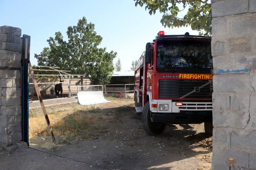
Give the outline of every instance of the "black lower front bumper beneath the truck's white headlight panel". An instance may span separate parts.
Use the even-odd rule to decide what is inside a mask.
[[[212,111],[180,111],[180,113],[152,113],[153,122],[171,124],[200,124],[212,122]]]

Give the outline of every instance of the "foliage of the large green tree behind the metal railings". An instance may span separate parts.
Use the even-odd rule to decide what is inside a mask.
[[[94,24],[87,23],[85,17],[78,20],[77,26],[69,26],[66,32],[68,41],[63,40],[60,32],[50,37],[49,47],[37,55],[38,65],[55,66],[71,70],[72,74],[82,74],[91,80],[91,84],[108,84],[114,71],[113,59],[117,53],[106,52],[98,48],[102,37],[94,31]],[[83,84],[81,78],[81,84]]]

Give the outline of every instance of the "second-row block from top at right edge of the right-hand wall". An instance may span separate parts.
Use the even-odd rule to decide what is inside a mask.
[[[248,14],[232,20],[233,33],[245,34],[256,32],[256,15]]]

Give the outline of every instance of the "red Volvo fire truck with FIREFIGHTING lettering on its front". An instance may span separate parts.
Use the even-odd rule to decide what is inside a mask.
[[[144,130],[165,124],[199,124],[212,135],[211,37],[164,35],[146,44],[135,69],[134,101]]]

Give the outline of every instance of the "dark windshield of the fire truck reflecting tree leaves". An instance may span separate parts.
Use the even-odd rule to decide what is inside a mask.
[[[211,42],[158,41],[156,68],[158,72],[210,72]]]

